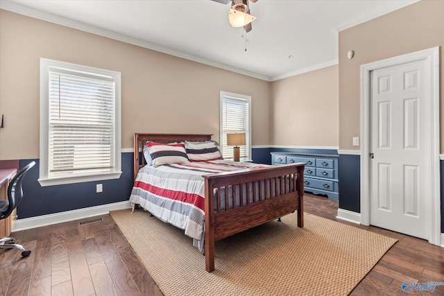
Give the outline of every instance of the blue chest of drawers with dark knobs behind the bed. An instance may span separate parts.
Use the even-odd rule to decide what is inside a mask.
[[[305,192],[339,200],[338,155],[272,152],[271,164],[305,162]]]

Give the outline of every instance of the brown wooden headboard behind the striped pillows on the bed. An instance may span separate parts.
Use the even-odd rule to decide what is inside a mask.
[[[137,172],[142,166],[146,164],[145,159],[139,156],[139,152],[142,151],[146,141],[152,141],[157,143],[172,143],[182,141],[209,141],[212,134],[134,134],[134,180],[137,177]]]

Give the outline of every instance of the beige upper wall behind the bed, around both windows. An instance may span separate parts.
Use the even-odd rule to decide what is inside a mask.
[[[40,58],[122,75],[122,148],[134,132],[212,133],[219,92],[252,97],[253,145],[270,140],[270,83],[0,10],[0,159],[39,157]]]

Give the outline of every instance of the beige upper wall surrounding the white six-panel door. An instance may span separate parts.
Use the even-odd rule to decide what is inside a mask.
[[[339,33],[339,148],[360,133],[361,64],[441,46],[441,139],[444,139],[444,1],[422,0]],[[355,51],[348,60],[347,52]],[[444,152],[441,141],[441,153]]]

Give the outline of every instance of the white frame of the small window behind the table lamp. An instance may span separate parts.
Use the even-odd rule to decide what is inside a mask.
[[[248,105],[248,119],[247,119],[247,136],[245,139],[245,143],[246,143],[246,150],[247,150],[247,157],[241,157],[240,161],[241,162],[250,162],[252,159],[252,148],[251,148],[251,96],[247,96],[244,94],[234,94],[232,92],[223,92],[221,91],[220,93],[220,109],[219,109],[219,116],[220,116],[220,123],[219,123],[219,139],[221,141],[220,143],[220,149],[221,149],[221,153],[223,154],[223,149],[224,148],[228,148],[228,149],[232,149],[232,146],[224,146],[223,145],[223,99],[224,98],[232,98],[233,100],[237,100],[237,101],[244,101],[247,103]]]

